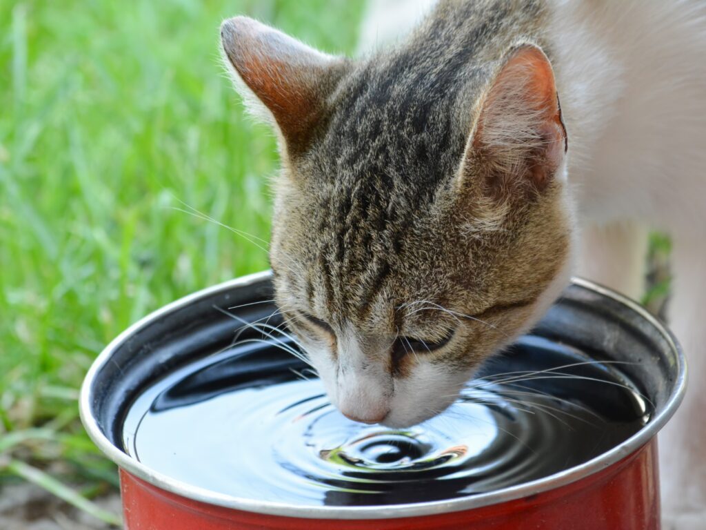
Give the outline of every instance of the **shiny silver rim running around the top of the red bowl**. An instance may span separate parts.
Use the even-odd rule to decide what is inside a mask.
[[[636,302],[633,302],[632,300],[625,298],[612,290],[590,281],[586,281],[582,278],[573,278],[572,281],[574,284],[616,300],[622,305],[628,307],[630,310],[633,310],[633,312],[640,314],[640,316],[654,326],[654,328],[659,331],[659,334],[661,334],[667,343],[669,343],[670,348],[676,353],[678,363],[678,379],[675,384],[675,390],[671,394],[669,401],[667,401],[664,406],[664,409],[657,413],[657,415],[650,420],[650,423],[645,425],[645,428],[642,428],[642,430],[633,435],[633,437],[628,438],[628,440],[617,445],[609,452],[605,452],[599,457],[587,461],[585,464],[581,464],[580,466],[575,466],[567,469],[566,471],[562,471],[561,473],[556,473],[549,477],[541,478],[537,481],[531,481],[513,486],[512,488],[503,488],[502,490],[490,493],[480,493],[473,495],[472,497],[463,497],[453,500],[380,507],[307,507],[277,502],[242,499],[239,497],[222,495],[203,488],[196,488],[193,485],[176,481],[169,476],[153,471],[148,468],[148,466],[145,466],[131,457],[128,457],[127,454],[115,447],[101,432],[95,418],[92,416],[90,411],[90,387],[96,373],[104,364],[109,362],[109,359],[116,348],[118,348],[118,346],[120,346],[126,338],[135,334],[136,331],[143,326],[150,324],[150,322],[156,319],[164,317],[174,310],[184,307],[185,305],[189,305],[200,298],[215,295],[221,291],[232,290],[233,288],[258,283],[260,281],[267,280],[268,278],[270,278],[270,271],[263,271],[261,273],[251,274],[250,276],[244,276],[225,283],[220,283],[219,285],[214,285],[213,287],[200,290],[172,302],[171,304],[162,307],[160,310],[149,314],[147,317],[141,319],[123,331],[123,333],[117,336],[114,341],[109,343],[100,355],[98,355],[83,381],[83,386],[81,387],[80,393],[79,408],[81,420],[83,421],[85,430],[88,431],[88,435],[91,437],[93,442],[95,442],[97,447],[109,459],[114,461],[125,471],[128,471],[128,473],[131,473],[132,475],[137,476],[138,478],[141,478],[144,481],[157,486],[158,488],[162,488],[162,490],[167,490],[189,499],[205,502],[211,505],[232,508],[234,510],[311,519],[386,519],[394,517],[433,515],[446,512],[457,512],[461,510],[471,510],[481,506],[493,505],[498,502],[514,500],[520,497],[542,493],[547,490],[561,488],[563,485],[578,481],[580,478],[585,478],[592,475],[592,473],[597,473],[602,469],[606,469],[612,464],[615,464],[617,461],[628,457],[628,455],[637,451],[640,447],[652,440],[652,437],[657,435],[657,432],[674,414],[674,411],[676,411],[676,408],[678,408],[681,400],[683,399],[684,391],[686,389],[686,363],[681,347],[678,346],[674,336],[664,327],[664,325],[662,325],[661,322],[655,319],[652,314],[647,312],[647,310],[638,305]]]

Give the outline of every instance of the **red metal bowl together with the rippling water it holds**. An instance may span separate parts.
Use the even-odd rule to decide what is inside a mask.
[[[318,415],[309,416],[316,420],[312,419],[312,424],[333,422],[330,423],[333,427],[325,431],[329,436],[335,437],[338,428],[347,429],[346,432],[354,433],[351,435],[354,440],[333,444],[328,449],[325,448],[327,442],[321,442],[323,445],[319,447],[315,440],[316,443],[306,444],[306,447],[316,446],[311,451],[306,449],[311,454],[305,454],[305,444],[298,434],[273,435],[267,442],[258,442],[261,434],[257,425],[260,423],[252,418],[267,415],[255,415],[253,411],[262,408],[261,401],[247,396],[234,402],[237,406],[225,409],[228,416],[223,417],[229,418],[227,421],[211,420],[216,425],[213,428],[225,427],[219,435],[208,432],[212,428],[208,421],[201,424],[201,418],[208,416],[199,412],[201,408],[194,408],[191,416],[175,416],[191,406],[211,406],[230,399],[236,391],[277,389],[277,384],[294,384],[292,381],[296,378],[285,377],[287,373],[306,379],[308,375],[303,373],[306,365],[294,355],[273,349],[279,345],[292,351],[296,345],[277,334],[282,323],[273,315],[272,298],[268,271],[193,293],[133,324],[104,349],[90,368],[81,390],[80,414],[92,440],[119,466],[128,530],[659,529],[656,435],[681,402],[686,365],[674,336],[637,303],[575,278],[530,334],[500,355],[501,361],[491,361],[481,370],[477,381],[482,384],[475,382],[472,389],[486,392],[497,382],[517,384],[520,379],[513,379],[512,374],[524,373],[532,376],[522,381],[523,385],[529,385],[520,391],[525,397],[509,400],[512,408],[509,412],[503,410],[508,403],[491,403],[486,394],[482,400],[466,399],[463,406],[475,408],[464,410],[481,415],[491,410],[494,416],[488,416],[491,420],[486,423],[494,425],[492,432],[488,434],[489,428],[479,427],[478,432],[486,435],[485,442],[464,442],[463,450],[450,456],[448,451],[436,452],[433,455],[436,460],[428,464],[431,460],[424,455],[420,457],[419,452],[431,454],[436,449],[429,449],[432,442],[424,442],[424,433],[431,432],[426,424],[416,430],[390,432],[375,426],[336,423],[340,419],[325,401],[289,418],[288,423],[285,422],[289,425],[287,428],[295,421],[301,423],[301,417],[311,413]],[[272,327],[260,326],[263,322],[269,322]],[[253,323],[257,324],[253,326]],[[534,355],[532,362],[540,365],[551,363],[557,355],[568,356],[575,362],[542,365],[539,370],[527,368],[528,355]],[[498,366],[502,369],[501,375],[504,374],[502,379],[498,379]],[[523,370],[518,368],[513,372],[513,367]],[[589,369],[592,371],[585,371]],[[618,379],[611,379],[614,376]],[[315,389],[319,383],[315,377],[313,379],[313,382],[296,382],[301,383],[296,388]],[[547,383],[544,379],[551,380]],[[546,401],[538,405],[537,399],[527,397],[533,384],[540,385],[537,387],[539,394],[548,393],[542,385],[554,385],[548,399],[562,393],[566,404],[582,392],[594,395],[600,416],[608,418],[605,424],[600,424],[605,427],[596,431],[599,435],[595,435],[595,440],[584,440],[590,436],[575,434],[567,439],[573,441],[562,442],[562,423],[568,428],[578,426],[580,429],[582,424],[574,419],[566,423],[569,416],[578,418],[576,411],[580,408],[563,411],[561,407],[550,408]],[[624,389],[630,391],[626,394]],[[248,394],[256,395],[265,396]],[[325,400],[318,394],[315,397]],[[539,398],[544,399],[541,395]],[[481,410],[479,404],[485,408]],[[620,413],[623,409],[628,412]],[[630,415],[630,411],[634,416],[630,416],[631,430],[621,431],[613,442],[600,445],[604,433],[611,430],[611,417]],[[270,416],[281,418],[277,414]],[[504,424],[505,428],[498,428],[508,432],[516,429],[514,434],[510,432],[512,438],[503,436],[495,428],[499,425],[496,425],[497,418],[505,417],[510,418],[509,423]],[[164,423],[165,418],[172,418],[169,420],[172,424]],[[272,418],[267,421],[276,421]],[[523,427],[523,421],[529,422],[529,427]],[[591,423],[590,418],[582,421]],[[540,429],[533,422],[544,422],[549,427],[545,425]],[[169,425],[176,425],[177,431],[170,432]],[[469,428],[467,422],[456,425]],[[238,428],[241,442],[229,442],[227,447],[232,448],[233,454],[241,452],[245,457],[241,455],[240,459],[233,460],[229,450],[222,449],[225,442],[220,441]],[[266,433],[277,428],[273,423],[261,431]],[[528,440],[535,440],[532,433],[536,434],[537,429],[540,434],[544,433],[537,438],[539,441],[533,442],[534,447],[530,444],[529,452],[520,450],[523,443],[527,446]],[[323,427],[320,430],[324,432]],[[148,435],[136,435],[136,432],[148,431],[155,433],[150,435],[155,437],[151,446],[141,441],[148,440]],[[175,434],[177,432],[179,434]],[[286,432],[304,431],[290,429]],[[323,435],[316,433],[314,437],[318,436]],[[480,434],[479,437],[482,438]],[[370,440],[376,442],[367,443]],[[381,444],[388,444],[387,452],[381,452]],[[544,444],[553,444],[551,447],[559,449],[542,449]],[[572,448],[579,445],[600,450],[595,454],[588,452],[582,459],[570,458]],[[215,449],[209,449],[212,447]],[[244,452],[245,447],[248,449]],[[249,457],[251,452],[265,456],[276,452],[288,458],[289,451],[299,455],[299,461],[309,459],[297,464],[299,482],[291,484],[287,482],[288,471],[268,469],[258,464],[259,457]],[[370,457],[372,464],[366,463],[365,459],[373,453],[377,456]],[[305,456],[301,457],[302,454]],[[443,472],[447,473],[442,477],[444,482],[440,478],[443,473],[439,470],[448,470],[449,461],[464,462],[476,473],[478,454],[500,455],[492,457],[495,466],[492,472],[483,474],[482,479],[474,475],[472,484],[464,483],[455,489],[437,487],[437,484],[455,484],[451,479],[455,480],[456,476],[451,471]],[[295,460],[292,456],[292,461]],[[319,471],[323,469],[321,476],[328,477],[326,470],[329,468],[325,466],[334,466],[330,469],[337,469],[348,478],[354,477],[360,487],[351,488],[348,483],[340,485],[338,476],[335,480],[320,481],[316,470],[302,472],[301,469],[309,469],[306,466],[311,461],[316,461],[312,465],[318,466]],[[512,466],[508,461],[514,462]],[[538,474],[535,461],[545,464],[550,461],[551,466],[542,464],[545,472]],[[566,465],[557,467],[557,463]],[[282,468],[296,467],[290,464],[287,461]],[[422,464],[427,468],[421,469]],[[410,470],[426,474],[409,474]],[[377,474],[364,474],[370,471]],[[258,473],[263,475],[269,489],[260,490]],[[436,482],[424,482],[423,488],[415,489],[414,481],[418,477],[425,477],[426,481],[429,473],[436,473],[433,474]],[[400,476],[408,479],[400,481]],[[381,478],[381,482],[369,487],[374,481],[366,477],[374,481]],[[366,488],[372,488],[375,495],[368,495]],[[381,495],[382,490],[385,495]],[[317,491],[322,493],[317,495]],[[301,500],[296,500],[299,493]]]

